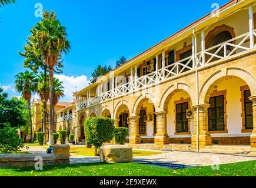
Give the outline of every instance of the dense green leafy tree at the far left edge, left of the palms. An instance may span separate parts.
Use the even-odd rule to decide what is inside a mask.
[[[6,126],[26,126],[29,122],[28,105],[25,99],[8,99],[8,94],[0,88],[0,129]]]

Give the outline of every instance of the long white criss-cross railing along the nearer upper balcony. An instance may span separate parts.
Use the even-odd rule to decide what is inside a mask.
[[[256,29],[254,30],[253,34],[256,37]],[[249,41],[249,46],[247,41]],[[254,47],[256,47],[256,44]],[[202,52],[198,52],[195,56],[189,56],[181,61],[172,63],[171,65],[158,69],[157,71],[151,72],[148,75],[135,78],[128,83],[117,86],[113,90],[101,93],[99,96],[90,98],[89,100],[78,100],[76,103],[76,109],[82,110],[112,98],[127,95],[127,93],[134,92],[135,90],[146,88],[148,85],[161,82],[162,80],[166,80],[172,76],[187,72],[188,70],[193,70],[195,69],[196,64],[202,67],[219,59],[224,59],[249,49],[250,33],[248,32],[218,45],[212,46],[211,48],[205,49]]]

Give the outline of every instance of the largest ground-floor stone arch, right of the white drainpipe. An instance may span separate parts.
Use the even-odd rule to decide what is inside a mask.
[[[235,76],[244,80],[251,90],[251,95],[256,96],[256,79],[251,75],[250,72],[247,72],[247,70],[241,68],[225,68],[218,70],[204,82],[199,93],[200,104],[208,103],[211,94],[210,92],[214,88],[214,83],[225,79],[228,76]]]

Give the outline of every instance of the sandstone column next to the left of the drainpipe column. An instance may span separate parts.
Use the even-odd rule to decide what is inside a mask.
[[[155,112],[157,115],[157,134],[155,135],[155,145],[169,145],[169,136],[167,134],[167,113]]]

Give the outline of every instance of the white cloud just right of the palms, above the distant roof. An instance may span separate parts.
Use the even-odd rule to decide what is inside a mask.
[[[73,92],[75,92],[75,87],[77,86],[77,91],[84,89],[89,85],[89,80],[87,76],[67,76],[67,75],[54,75],[55,78],[58,78],[63,82],[65,100],[71,101],[73,99]]]

